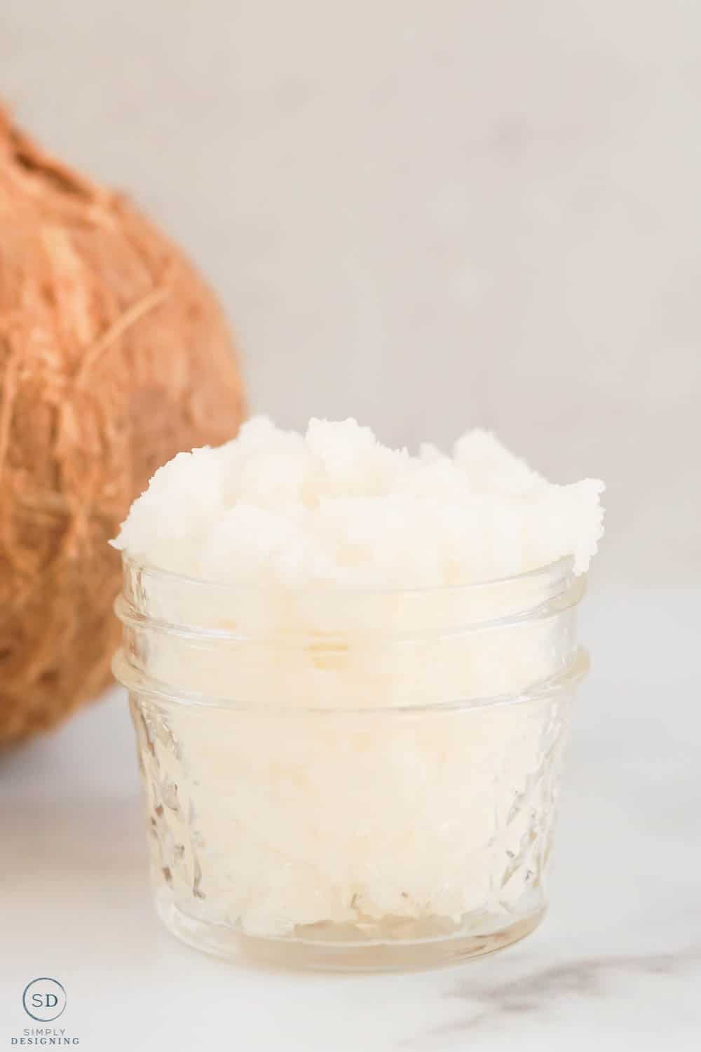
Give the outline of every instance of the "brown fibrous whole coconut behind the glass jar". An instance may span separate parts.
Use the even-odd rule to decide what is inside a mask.
[[[0,744],[109,682],[120,558],[157,467],[232,438],[239,368],[217,300],[129,202],[0,113]]]

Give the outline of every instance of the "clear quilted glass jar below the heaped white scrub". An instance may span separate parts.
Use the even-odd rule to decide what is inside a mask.
[[[540,920],[571,560],[470,586],[233,587],[124,560],[156,906],[191,946],[426,967]]]

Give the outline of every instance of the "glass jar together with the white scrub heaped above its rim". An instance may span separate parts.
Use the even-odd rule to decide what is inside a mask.
[[[483,431],[411,457],[264,418],[156,473],[115,669],[171,930],[376,968],[535,927],[602,489]]]

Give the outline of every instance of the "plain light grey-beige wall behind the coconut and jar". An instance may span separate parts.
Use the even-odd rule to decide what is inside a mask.
[[[224,298],[253,407],[494,427],[701,580],[701,5],[0,0],[0,92]]]

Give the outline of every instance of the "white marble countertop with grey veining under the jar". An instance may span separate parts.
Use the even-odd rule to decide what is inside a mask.
[[[50,1026],[86,1052],[697,1050],[700,605],[692,589],[589,596],[549,915],[439,971],[273,972],[161,930],[120,691],[2,757],[0,1048],[32,1023],[26,984],[49,975],[67,993]]]

